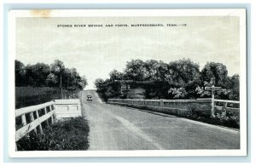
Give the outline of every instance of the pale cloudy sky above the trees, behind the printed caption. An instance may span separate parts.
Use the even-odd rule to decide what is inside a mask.
[[[163,26],[131,26],[136,24]],[[240,71],[239,48],[239,18],[233,16],[16,19],[15,59],[24,65],[61,60],[87,78],[86,89],[95,89],[96,78],[108,78],[113,69],[122,72],[131,59],[169,63],[189,58],[201,68],[207,61],[219,62],[232,76]]]

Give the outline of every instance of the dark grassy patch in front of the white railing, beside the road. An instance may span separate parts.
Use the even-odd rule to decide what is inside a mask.
[[[89,125],[83,117],[66,119],[44,129],[44,134],[34,132],[16,142],[18,151],[68,151],[89,148]]]

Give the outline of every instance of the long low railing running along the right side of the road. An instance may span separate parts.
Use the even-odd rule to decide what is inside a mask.
[[[109,104],[144,108],[153,111],[170,112],[183,115],[191,109],[196,109],[205,114],[211,114],[212,99],[197,100],[139,100],[139,99],[109,99]],[[240,114],[240,101],[214,100],[214,112],[231,112],[234,116]]]

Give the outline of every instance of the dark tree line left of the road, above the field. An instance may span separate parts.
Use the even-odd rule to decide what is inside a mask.
[[[84,89],[87,80],[75,68],[66,68],[61,60],[52,64],[37,63],[24,65],[15,60],[16,87],[58,87],[67,90]]]

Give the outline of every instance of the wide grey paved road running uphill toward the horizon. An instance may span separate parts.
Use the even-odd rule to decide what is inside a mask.
[[[93,100],[87,101],[86,95]],[[239,149],[240,132],[186,118],[102,103],[82,91],[90,150]]]

